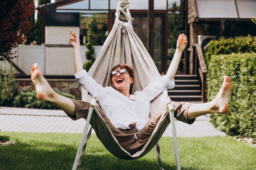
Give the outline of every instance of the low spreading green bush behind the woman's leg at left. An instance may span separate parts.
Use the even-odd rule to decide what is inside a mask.
[[[59,93],[65,97],[76,99],[75,96],[68,93]],[[15,97],[13,102],[14,107],[25,108],[39,108],[39,109],[59,109],[55,104],[51,102],[41,101],[37,99],[36,91],[28,91],[26,93],[20,93]]]

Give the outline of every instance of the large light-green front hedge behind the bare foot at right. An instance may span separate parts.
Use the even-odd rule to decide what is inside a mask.
[[[213,55],[207,76],[207,98],[217,94],[223,75],[229,75],[232,91],[228,114],[211,114],[211,123],[228,135],[256,141],[256,53]]]

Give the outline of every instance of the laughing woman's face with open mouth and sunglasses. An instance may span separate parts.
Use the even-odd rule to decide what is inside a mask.
[[[133,78],[130,77],[128,71],[121,75],[119,71],[123,68],[116,68],[114,71],[118,71],[115,77],[112,77],[112,83],[117,91],[128,91],[130,90],[130,84],[133,83]]]

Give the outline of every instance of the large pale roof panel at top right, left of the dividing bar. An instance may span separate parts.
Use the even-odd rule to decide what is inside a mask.
[[[234,0],[196,0],[199,18],[238,18]]]

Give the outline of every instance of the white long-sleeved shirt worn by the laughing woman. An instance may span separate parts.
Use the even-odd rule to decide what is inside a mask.
[[[174,79],[167,76],[158,77],[143,91],[136,91],[130,98],[112,87],[103,87],[83,70],[75,74],[76,81],[91,95],[97,93],[97,101],[111,123],[119,129],[129,129],[129,125],[137,122],[137,130],[141,130],[149,121],[150,102],[164,89],[175,86]],[[132,100],[135,100],[132,101]]]

